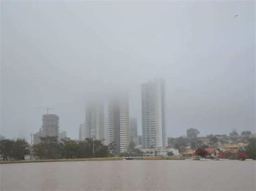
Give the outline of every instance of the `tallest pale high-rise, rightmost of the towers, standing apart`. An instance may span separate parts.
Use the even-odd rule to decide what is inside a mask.
[[[164,80],[142,84],[142,137],[143,148],[167,146]]]

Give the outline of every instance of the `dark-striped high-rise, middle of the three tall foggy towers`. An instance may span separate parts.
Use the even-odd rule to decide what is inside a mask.
[[[130,143],[128,96],[112,98],[108,112],[108,144],[114,143],[114,154],[126,152]]]

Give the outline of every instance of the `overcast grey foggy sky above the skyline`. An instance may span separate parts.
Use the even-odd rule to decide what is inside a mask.
[[[78,138],[87,94],[166,80],[167,134],[255,132],[254,1],[1,1],[1,127],[29,138],[51,107]],[[238,17],[234,17],[239,15]]]

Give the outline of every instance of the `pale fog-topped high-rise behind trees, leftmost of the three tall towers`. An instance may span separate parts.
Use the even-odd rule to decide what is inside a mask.
[[[86,104],[86,138],[104,139],[104,104],[90,102]]]

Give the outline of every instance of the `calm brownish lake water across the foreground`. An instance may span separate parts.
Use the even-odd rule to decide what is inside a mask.
[[[256,161],[126,160],[0,165],[1,190],[256,190]]]

